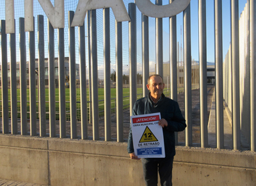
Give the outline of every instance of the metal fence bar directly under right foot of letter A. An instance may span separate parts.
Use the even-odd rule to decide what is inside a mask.
[[[123,47],[122,22],[116,21],[116,131],[117,142],[124,141],[123,121]]]

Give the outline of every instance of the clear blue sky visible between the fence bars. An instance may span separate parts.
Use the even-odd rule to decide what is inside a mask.
[[[52,3],[54,2],[54,0],[51,0],[51,1],[52,1]],[[125,3],[125,6],[127,6],[127,4],[130,2],[134,2],[134,0],[123,0],[123,1]],[[152,1],[152,3],[155,2],[155,0],[150,0],[150,1]],[[179,1],[179,0],[177,0],[177,1]],[[17,3],[19,1],[15,1],[15,2]],[[65,1],[65,2],[67,2],[67,1]],[[74,10],[75,10],[76,3],[78,2],[78,0],[68,1],[68,2],[70,2],[69,6],[74,7]],[[247,2],[247,0],[239,0],[239,17],[240,17],[240,13],[244,9],[246,2]],[[37,0],[34,0],[34,3],[38,3]],[[169,3],[169,0],[163,0],[163,5],[168,4],[168,3]],[[191,55],[192,55],[192,59],[195,59],[196,61],[198,61],[198,0],[191,0],[190,4],[191,4]],[[1,1],[0,5],[1,5],[0,10],[2,10],[0,13],[0,19],[4,19],[4,17],[5,17],[4,12],[3,12],[4,1]],[[23,3],[22,3],[22,5],[23,5]],[[206,0],[206,6],[207,6],[206,7],[207,8],[207,10],[206,10],[206,14],[207,14],[206,15],[206,19],[207,19],[207,61],[214,62],[214,0]],[[16,10],[16,8],[18,10]],[[222,9],[223,9],[222,17],[223,17],[223,59],[224,59],[225,55],[227,54],[228,47],[230,44],[230,0],[222,1]],[[102,10],[100,10],[100,11],[102,12]],[[35,10],[35,12],[42,12],[42,8],[39,8],[39,9],[37,8]],[[24,15],[24,8],[22,6],[19,7],[17,4],[15,4],[15,16],[17,14]],[[139,12],[137,12],[137,15],[138,14],[139,14]],[[45,17],[45,19],[46,19],[46,17]],[[151,21],[154,22],[154,20],[151,20]],[[138,22],[138,20],[137,20],[137,22]],[[138,23],[137,37],[139,37],[141,35],[141,31],[140,31],[141,26],[140,25],[141,24]],[[127,27],[127,26],[128,26],[128,23],[123,22],[123,27]],[[179,42],[179,43],[180,43],[180,26],[183,29],[183,13],[179,13],[179,15],[177,15],[177,42]],[[152,27],[150,29],[152,29]],[[115,30],[115,22],[114,22],[114,30]],[[165,32],[165,36],[166,35],[168,36],[169,18],[163,19],[163,30]],[[125,34],[126,34],[126,32],[125,32]],[[154,34],[154,31],[152,31],[152,34]],[[67,34],[66,34],[66,36],[67,36]],[[115,32],[114,32],[114,35],[112,36],[112,38],[113,38],[113,44],[115,45]],[[66,38],[66,40],[67,40],[67,38]],[[154,36],[152,36],[152,38],[150,38],[150,42],[152,42],[152,41],[154,41]],[[165,43],[164,47],[166,47],[166,45],[168,47],[168,40],[164,40],[164,43]],[[124,45],[124,47],[126,47],[124,50],[129,50],[127,48],[128,47],[127,38],[124,38],[123,45]],[[138,46],[137,46],[138,63],[140,63],[140,61],[141,61],[141,57],[140,57],[141,46],[140,45],[141,45],[141,43],[139,42]],[[68,47],[66,47],[66,49],[68,49]],[[167,49],[165,49],[165,51],[166,50]],[[165,52],[165,51],[164,51],[164,62],[169,60],[168,59],[169,55],[167,55],[167,52]],[[124,68],[126,68],[125,67],[127,65],[126,63],[129,60],[127,52],[124,52],[124,54],[123,54]],[[155,58],[154,52],[155,52],[155,48],[151,47],[150,48],[150,56],[151,56],[150,59],[152,61],[154,61],[154,58]],[[115,61],[114,53],[115,53],[115,46],[113,46],[113,55],[111,55],[111,56],[113,56],[113,58],[111,57],[111,61]],[[67,54],[68,54],[68,52],[67,52]],[[45,55],[45,58],[47,58],[47,55]],[[77,61],[77,63],[78,63],[78,61]]]

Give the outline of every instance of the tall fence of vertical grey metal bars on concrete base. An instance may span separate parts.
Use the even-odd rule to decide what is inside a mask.
[[[223,97],[232,111],[232,125],[234,136],[234,149],[239,150],[240,131],[244,136],[250,134],[251,150],[255,151],[255,3],[250,1],[248,8],[250,14],[244,13],[243,30],[238,29],[238,1],[231,1],[231,15],[232,15],[232,45],[227,54],[223,67],[222,59],[222,21],[221,21],[221,1],[214,1],[214,23],[215,23],[215,63],[216,63],[216,141],[217,148],[224,148],[223,140]],[[156,3],[161,4],[161,1]],[[172,0],[170,0],[172,3]],[[142,61],[143,61],[143,93],[147,95],[148,91],[145,88],[147,84],[147,77],[149,75],[148,66],[148,17],[141,15],[142,19],[136,19],[136,4],[129,3],[129,107],[130,111],[132,105],[137,97],[137,48],[136,48],[136,22],[141,21],[142,25]],[[191,64],[191,15],[190,5],[183,12],[184,17],[184,95],[185,95],[185,118],[188,127],[186,128],[186,146],[193,146],[192,143],[192,64]],[[245,18],[246,17],[246,18]],[[68,12],[68,41],[69,41],[69,56],[68,56],[68,70],[69,70],[69,111],[70,111],[70,138],[77,138],[77,87],[76,87],[76,43],[75,43],[75,27],[71,27],[74,12]],[[109,8],[103,10],[103,33],[104,33],[104,122],[105,122],[105,140],[111,141],[111,81],[110,81],[110,57],[109,57]],[[198,0],[198,22],[199,22],[199,70],[200,76],[200,136],[201,146],[203,148],[208,146],[208,132],[207,132],[207,59],[206,59],[206,20],[205,20],[205,0]],[[241,21],[241,20],[240,20]],[[161,33],[162,20],[156,19],[156,72],[163,75],[163,38]],[[98,67],[97,67],[97,15],[96,10],[88,11],[88,48],[89,48],[89,93],[87,95],[86,82],[86,52],[85,52],[85,26],[78,27],[79,37],[79,84],[80,84],[80,102],[81,104],[81,139],[88,139],[88,100],[92,104],[92,125],[93,125],[93,140],[99,140],[99,88],[98,88]],[[246,24],[247,23],[247,24]],[[250,26],[249,26],[250,23]],[[241,23],[240,23],[241,24]],[[29,49],[26,51],[26,35],[24,32],[24,19],[19,19],[19,50],[20,50],[20,134],[27,135],[27,91],[29,91],[29,122],[31,136],[36,136],[36,112],[39,114],[40,122],[40,136],[46,136],[46,100],[45,100],[45,40],[44,40],[44,17],[38,15],[37,17],[37,31],[38,43],[35,43],[35,29],[28,33]],[[123,93],[123,64],[122,64],[122,23],[115,23],[115,37],[116,37],[116,136],[117,141],[124,141],[124,93]],[[2,83],[2,122],[3,133],[9,133],[9,118],[11,118],[12,134],[18,134],[17,126],[17,69],[16,69],[16,38],[15,33],[10,34],[10,98],[8,97],[8,60],[7,60],[7,35],[5,33],[5,21],[1,20],[1,83]],[[250,28],[246,30],[245,27]],[[67,116],[67,100],[65,94],[65,50],[64,50],[64,30],[57,29],[58,35],[54,35],[54,29],[51,23],[48,22],[48,63],[49,63],[49,136],[56,137],[56,104],[59,107],[59,122],[60,122],[60,138],[67,137],[66,135],[66,116]],[[178,81],[177,81],[177,34],[176,34],[176,17],[170,17],[170,97],[177,100]],[[238,33],[240,35],[238,35]],[[243,35],[241,33],[244,33]],[[250,39],[248,38],[250,35]],[[58,98],[56,100],[55,78],[54,78],[54,37],[58,37]],[[250,40],[250,44],[247,42]],[[242,51],[243,55],[238,50]],[[35,77],[35,45],[38,45],[38,111],[36,111],[36,77]],[[250,48],[250,49],[249,49]],[[231,50],[232,49],[232,50]],[[251,51],[251,52],[250,52]],[[253,52],[254,51],[254,52]],[[27,89],[27,70],[26,70],[26,52],[29,52],[29,89]],[[245,55],[247,52],[248,55]],[[240,61],[240,62],[239,62]],[[239,65],[240,64],[240,65]],[[179,66],[179,64],[178,64]],[[232,69],[230,68],[232,66]],[[243,66],[243,68],[239,68]],[[239,69],[241,72],[239,73]],[[250,70],[249,70],[250,69]],[[239,76],[240,74],[240,76]],[[232,77],[232,79],[231,79]],[[251,81],[250,81],[251,80]],[[248,82],[250,81],[250,82]],[[239,86],[240,85],[240,86]],[[249,86],[250,85],[250,86]],[[248,90],[250,90],[248,92]],[[250,95],[250,96],[248,96]],[[10,100],[11,116],[8,113],[8,100]],[[128,105],[128,104],[127,104]],[[241,105],[241,107],[240,107]],[[250,105],[250,107],[249,107]],[[250,112],[250,116],[248,117]],[[241,117],[240,117],[241,116]],[[240,121],[241,118],[241,121]],[[250,126],[248,123],[251,123]],[[241,129],[241,130],[240,130]],[[176,143],[178,144],[177,135]]]

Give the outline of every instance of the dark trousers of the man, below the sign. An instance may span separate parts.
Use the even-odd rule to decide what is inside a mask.
[[[168,159],[141,159],[144,180],[147,186],[157,186],[157,170],[162,186],[172,186],[173,157]]]

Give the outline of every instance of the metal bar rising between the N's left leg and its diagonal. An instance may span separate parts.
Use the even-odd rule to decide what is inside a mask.
[[[38,15],[38,75],[39,75],[39,123],[40,136],[46,136],[45,125],[45,61],[44,61],[44,16]]]

